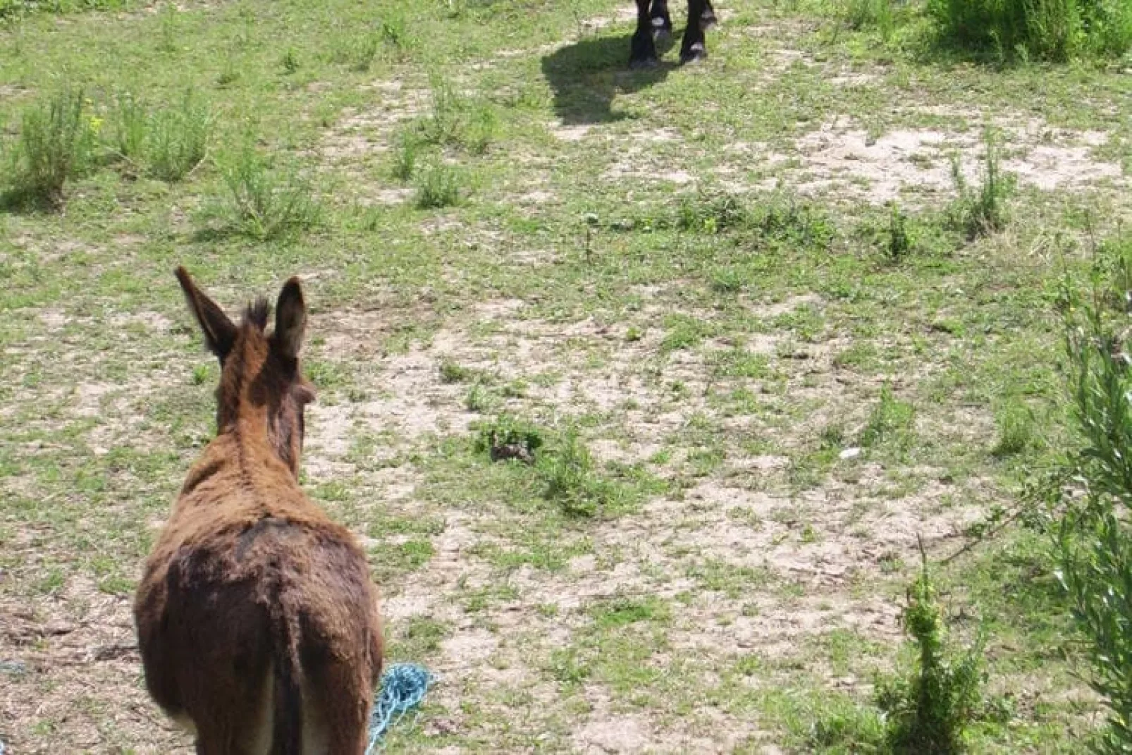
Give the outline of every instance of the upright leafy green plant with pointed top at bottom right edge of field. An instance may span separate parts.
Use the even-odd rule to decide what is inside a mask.
[[[958,658],[950,657],[947,628],[926,556],[908,590],[902,621],[918,654],[911,672],[877,685],[877,705],[886,715],[885,739],[894,753],[960,753],[963,732],[981,700],[984,637],[980,634]]]

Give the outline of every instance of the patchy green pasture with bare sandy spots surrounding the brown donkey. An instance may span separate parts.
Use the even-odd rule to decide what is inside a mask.
[[[1132,280],[1120,63],[972,60],[923,3],[723,7],[704,66],[640,72],[608,0],[20,10],[3,190],[25,112],[82,160],[0,212],[12,752],[189,746],[135,660],[71,658],[121,642],[214,431],[178,264],[233,315],[303,280],[301,479],[362,538],[389,658],[443,675],[392,752],[881,748],[917,531],[993,537],[933,573],[953,636],[986,626],[969,749],[1098,728],[1013,515],[1073,447],[1061,312],[1098,276],[1123,317]]]

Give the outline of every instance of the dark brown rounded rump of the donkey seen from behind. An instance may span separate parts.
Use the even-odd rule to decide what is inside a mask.
[[[274,720],[285,703],[275,697],[291,685],[295,704],[282,707],[302,720],[311,743],[303,752],[325,749],[315,744],[325,741],[321,731],[365,721],[366,704],[318,703],[343,693],[368,701],[380,671],[365,557],[337,529],[264,516],[177,548],[164,578],[138,601],[140,612],[157,614],[139,623],[149,627],[139,637],[146,681],[173,718],[197,730],[207,721],[199,733],[231,741],[231,752],[267,752],[273,726],[285,723]]]

